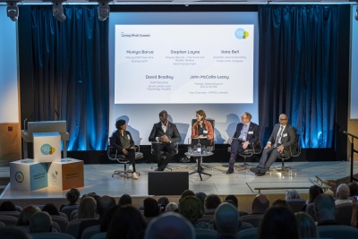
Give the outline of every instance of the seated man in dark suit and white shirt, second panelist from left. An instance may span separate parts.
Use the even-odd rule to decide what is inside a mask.
[[[164,171],[167,164],[175,157],[176,144],[182,141],[176,125],[168,122],[166,110],[159,113],[160,122],[153,125],[149,135],[149,141],[153,142],[155,157],[158,162],[157,171]],[[166,151],[166,160],[160,157],[160,152]]]

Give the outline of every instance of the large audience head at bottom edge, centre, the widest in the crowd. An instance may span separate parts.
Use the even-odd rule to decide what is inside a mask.
[[[168,212],[149,222],[144,238],[195,239],[195,231],[192,224],[181,214]]]

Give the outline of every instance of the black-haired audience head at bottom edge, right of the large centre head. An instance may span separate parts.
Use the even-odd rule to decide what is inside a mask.
[[[269,208],[261,221],[259,239],[298,239],[298,229],[294,213],[282,206]]]

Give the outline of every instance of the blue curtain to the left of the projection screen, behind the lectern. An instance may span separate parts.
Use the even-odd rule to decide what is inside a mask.
[[[108,21],[97,5],[31,6],[36,121],[66,120],[68,150],[106,149],[108,132]],[[57,117],[57,113],[58,117]]]

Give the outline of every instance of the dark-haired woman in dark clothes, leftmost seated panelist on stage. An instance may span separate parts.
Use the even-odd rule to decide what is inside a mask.
[[[135,146],[131,132],[126,131],[127,124],[123,119],[115,123],[115,128],[117,130],[112,134],[111,146],[117,150],[117,154],[125,155],[125,158],[129,159],[131,166],[129,166],[128,171],[132,172],[133,179],[138,179],[138,175],[135,172]]]

